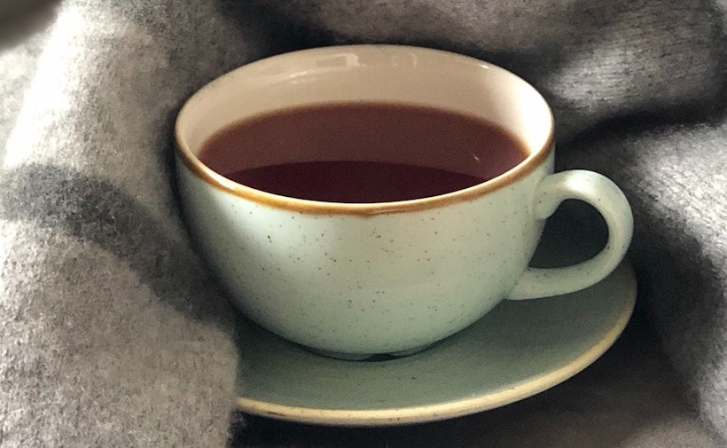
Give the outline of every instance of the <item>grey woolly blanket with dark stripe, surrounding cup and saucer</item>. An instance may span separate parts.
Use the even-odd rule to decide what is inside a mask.
[[[725,444],[724,0],[13,3],[0,9],[3,448]],[[573,380],[404,428],[231,413],[245,342],[178,213],[176,111],[254,59],[361,42],[511,69],[554,108],[559,168],[627,193],[637,318]]]

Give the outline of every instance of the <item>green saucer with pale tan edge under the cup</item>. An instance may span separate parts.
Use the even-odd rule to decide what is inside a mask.
[[[549,220],[533,264],[574,263],[598,252],[603,238],[582,227]],[[636,290],[624,262],[593,287],[504,301],[426,350],[379,361],[325,358],[244,322],[237,404],[274,419],[345,426],[443,420],[508,405],[599,358],[626,326]]]

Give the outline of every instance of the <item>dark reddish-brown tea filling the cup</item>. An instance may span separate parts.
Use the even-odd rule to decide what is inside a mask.
[[[268,193],[366,203],[455,192],[512,169],[527,155],[509,132],[473,116],[351,103],[235,123],[209,138],[199,159]]]

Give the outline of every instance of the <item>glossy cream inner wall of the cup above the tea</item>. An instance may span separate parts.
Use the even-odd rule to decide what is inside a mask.
[[[520,165],[534,163],[551,145],[551,110],[517,75],[455,53],[396,45],[296,51],[240,67],[187,101],[177,118],[177,140],[183,156],[201,164],[207,139],[235,122],[294,107],[361,102],[434,107],[487,120],[520,141],[528,153]],[[480,174],[472,163],[477,153],[399,147],[331,150],[292,142],[282,151],[260,147],[215,163],[232,172],[302,161],[386,161]]]

